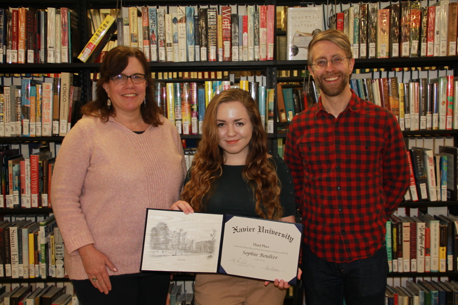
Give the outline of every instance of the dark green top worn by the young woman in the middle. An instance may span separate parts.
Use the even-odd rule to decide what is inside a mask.
[[[280,181],[280,203],[283,207],[283,217],[296,215],[294,203],[293,178],[290,170],[280,157],[269,158],[277,169]],[[207,202],[205,212],[210,214],[232,214],[259,218],[254,211],[255,197],[252,189],[243,180],[242,170],[244,165],[223,165],[221,177],[215,182],[213,192]],[[189,181],[189,171],[185,184]],[[208,195],[206,195],[207,197]],[[205,197],[205,199],[207,199]]]

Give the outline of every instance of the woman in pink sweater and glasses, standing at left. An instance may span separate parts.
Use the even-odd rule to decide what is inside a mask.
[[[186,173],[180,136],[153,101],[145,55],[116,47],[96,99],[62,142],[51,197],[83,305],[165,303],[169,276],[140,273],[147,208],[169,209]]]

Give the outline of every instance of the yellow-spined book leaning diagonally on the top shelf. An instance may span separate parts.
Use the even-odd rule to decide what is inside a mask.
[[[88,44],[78,55],[78,59],[80,59],[83,63],[87,62],[89,59],[89,62],[93,63],[115,31],[115,18],[111,15],[107,15],[100,24],[99,28],[97,28],[97,31],[94,33],[92,38],[89,40]]]

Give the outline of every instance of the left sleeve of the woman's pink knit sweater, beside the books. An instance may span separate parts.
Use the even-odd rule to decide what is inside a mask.
[[[52,175],[52,210],[71,255],[78,255],[79,248],[95,243],[80,204],[92,154],[90,139],[83,124],[76,124],[62,142]]]

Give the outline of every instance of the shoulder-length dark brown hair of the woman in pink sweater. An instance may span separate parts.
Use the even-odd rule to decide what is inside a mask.
[[[95,100],[83,105],[81,113],[89,116],[100,117],[104,122],[108,121],[108,117],[115,114],[114,107],[107,106],[108,95],[106,94],[103,84],[110,81],[110,77],[119,75],[126,69],[129,64],[129,58],[135,57],[140,62],[146,74],[146,103],[140,106],[140,112],[145,123],[151,124],[154,127],[162,125],[161,114],[162,109],[154,102],[153,96],[153,79],[150,74],[150,67],[145,57],[145,54],[139,49],[118,46],[109,50],[103,59],[100,67],[100,78],[96,83],[96,98]],[[145,105],[146,104],[146,105]]]

